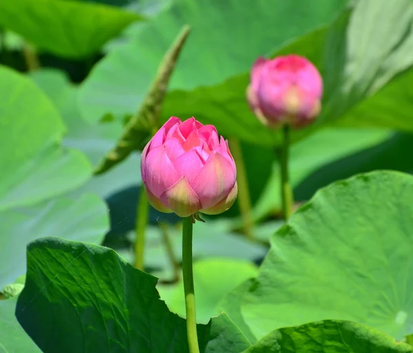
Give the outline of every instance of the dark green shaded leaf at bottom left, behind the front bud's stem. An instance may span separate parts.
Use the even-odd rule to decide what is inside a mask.
[[[167,309],[156,277],[111,249],[56,238],[28,247],[17,319],[43,351],[188,352],[184,319]],[[201,352],[249,347],[226,315],[198,326]]]

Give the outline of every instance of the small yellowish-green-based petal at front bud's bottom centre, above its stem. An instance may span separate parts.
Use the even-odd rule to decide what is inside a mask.
[[[164,205],[168,205],[180,217],[191,216],[191,214],[195,214],[202,207],[200,199],[193,192],[185,177],[182,177],[176,184],[169,187],[160,196],[160,199]]]

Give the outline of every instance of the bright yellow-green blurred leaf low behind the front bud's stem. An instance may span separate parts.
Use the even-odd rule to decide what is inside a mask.
[[[221,308],[217,307],[226,294],[233,291],[245,280],[257,275],[257,267],[246,260],[215,258],[200,260],[193,264],[193,282],[196,295],[197,322],[207,323],[213,315],[219,315]],[[169,291],[170,285],[158,285],[160,297],[163,290]],[[182,282],[173,287],[173,293],[167,293],[165,302],[168,308],[180,317],[186,317],[184,286]]]

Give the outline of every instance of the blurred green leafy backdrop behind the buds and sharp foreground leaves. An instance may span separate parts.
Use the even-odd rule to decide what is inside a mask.
[[[202,322],[255,277],[283,225],[279,135],[245,101],[257,56],[303,55],[324,78],[319,119],[293,133],[297,207],[360,172],[413,172],[410,0],[1,1],[0,293],[24,275],[25,245],[43,236],[104,244],[134,263],[140,155],[105,174],[93,170],[138,111],[185,24],[192,30],[161,122],[195,116],[240,144],[254,222],[251,239],[236,202],[196,225],[195,282],[207,288]],[[150,209],[145,268],[162,280],[171,310],[182,313],[182,284],[169,283],[173,265],[162,232],[180,262],[180,219]],[[226,286],[209,293],[217,281]]]

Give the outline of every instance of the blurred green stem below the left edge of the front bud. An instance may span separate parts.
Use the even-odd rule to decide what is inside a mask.
[[[143,271],[143,253],[145,249],[145,229],[148,223],[149,202],[145,188],[140,187],[139,201],[136,206],[135,267]]]

